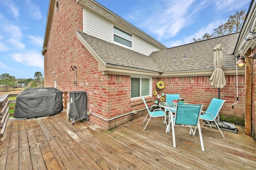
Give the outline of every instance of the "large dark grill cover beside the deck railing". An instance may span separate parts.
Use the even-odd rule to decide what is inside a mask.
[[[40,117],[62,110],[62,91],[54,87],[27,88],[17,96],[13,117]]]

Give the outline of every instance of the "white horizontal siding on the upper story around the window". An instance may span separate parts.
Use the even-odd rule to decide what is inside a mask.
[[[123,26],[118,24],[113,24],[110,20],[105,18],[101,18],[99,15],[94,14],[89,10],[83,8],[83,32],[94,36],[96,38],[100,38],[107,42],[118,44],[122,47],[126,47],[128,49],[132,49],[136,52],[142,53],[144,55],[150,55],[153,51],[160,50],[158,47],[152,45],[152,43],[146,42],[142,38],[138,37],[136,34],[132,34],[132,32],[124,30],[132,35],[132,47],[128,47],[126,45],[122,45],[120,43],[114,42],[113,34],[114,34],[114,26],[117,28],[123,29]]]

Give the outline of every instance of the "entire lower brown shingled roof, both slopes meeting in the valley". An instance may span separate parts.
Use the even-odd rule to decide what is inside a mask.
[[[104,65],[112,67],[126,67],[142,71],[158,72],[159,76],[170,75],[175,72],[213,71],[214,47],[220,43],[223,47],[223,69],[234,68],[236,58],[233,51],[239,33],[200,42],[180,45],[161,51],[155,51],[150,56],[143,55],[131,49],[106,42],[83,32],[77,32],[82,39],[97,53]],[[188,59],[183,60],[184,56]],[[174,57],[177,58],[174,61]],[[150,73],[149,73],[150,74]],[[204,74],[204,73],[202,73]]]

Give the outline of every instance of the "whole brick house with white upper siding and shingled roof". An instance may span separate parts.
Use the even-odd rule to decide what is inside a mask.
[[[94,0],[50,0],[42,49],[44,86],[86,91],[89,119],[105,129],[145,115],[141,96],[152,105],[159,80],[165,88],[158,92],[178,93],[206,109],[218,97],[210,76],[213,48],[221,43],[226,86],[220,98],[226,102],[220,113],[244,119],[245,69],[240,67],[238,96],[236,92],[234,49],[239,36],[167,48]],[[69,71],[71,65],[74,71]]]

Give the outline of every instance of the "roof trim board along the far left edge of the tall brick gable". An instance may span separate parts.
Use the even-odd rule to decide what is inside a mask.
[[[42,55],[44,55],[47,51],[48,40],[49,40],[49,36],[50,36],[50,28],[51,28],[51,25],[52,25],[52,16],[53,16],[54,4],[55,4],[55,0],[50,0],[49,1],[46,27],[45,27],[45,32],[44,32],[44,43],[43,43],[43,49],[41,51]]]

